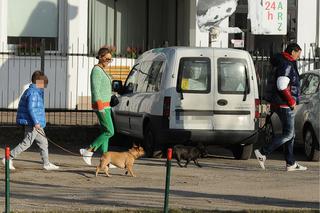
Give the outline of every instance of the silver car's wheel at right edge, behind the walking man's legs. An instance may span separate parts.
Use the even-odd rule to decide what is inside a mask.
[[[319,150],[316,149],[317,141],[313,130],[309,127],[303,134],[304,152],[308,160],[319,161]]]

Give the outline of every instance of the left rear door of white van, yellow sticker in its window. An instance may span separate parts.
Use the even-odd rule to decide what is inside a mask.
[[[172,129],[213,129],[213,96],[211,93],[211,59],[209,55],[186,52],[179,59],[178,78],[173,100]]]

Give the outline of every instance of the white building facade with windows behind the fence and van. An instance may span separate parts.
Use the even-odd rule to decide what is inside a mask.
[[[30,74],[41,68],[42,39],[49,108],[74,109],[89,96],[90,70],[103,45],[116,57],[111,66],[129,67],[151,48],[233,48],[233,39],[243,39],[243,49],[253,54],[279,51],[296,41],[303,57],[319,56],[319,1],[287,2],[287,35],[252,35],[247,0],[238,0],[235,13],[220,26],[238,27],[244,33],[221,32],[213,41],[197,26],[197,0],[1,0],[0,108],[16,108]]]

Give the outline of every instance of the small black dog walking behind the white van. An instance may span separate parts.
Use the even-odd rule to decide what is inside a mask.
[[[184,145],[175,145],[173,147],[173,157],[177,160],[177,163],[180,167],[183,167],[180,164],[181,160],[186,160],[184,167],[187,167],[191,160],[195,165],[201,167],[201,165],[198,163],[198,158],[205,157],[207,154],[208,152],[203,144],[198,144],[196,147]]]

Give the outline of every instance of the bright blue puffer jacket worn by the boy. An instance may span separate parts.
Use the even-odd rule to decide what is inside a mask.
[[[46,126],[44,91],[37,88],[35,84],[30,84],[29,88],[21,96],[17,124],[24,126],[40,124],[42,128]]]

